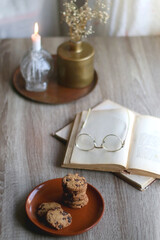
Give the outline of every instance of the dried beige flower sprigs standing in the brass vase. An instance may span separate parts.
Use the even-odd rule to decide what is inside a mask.
[[[93,27],[88,26],[88,22],[97,19],[101,23],[107,23],[109,18],[108,12],[102,0],[96,0],[95,9],[88,5],[88,0],[78,8],[77,0],[66,0],[63,4],[65,11],[62,12],[63,20],[69,26],[69,35],[73,41],[80,41],[83,37],[94,33]]]

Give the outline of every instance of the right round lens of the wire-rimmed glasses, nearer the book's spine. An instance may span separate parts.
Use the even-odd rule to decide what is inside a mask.
[[[110,152],[118,151],[121,149],[121,147],[122,147],[121,139],[114,134],[107,135],[103,139],[103,148],[106,149],[107,151]]]

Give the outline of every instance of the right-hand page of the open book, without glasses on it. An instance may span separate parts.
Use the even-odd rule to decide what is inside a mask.
[[[160,174],[160,119],[137,116],[128,168]]]

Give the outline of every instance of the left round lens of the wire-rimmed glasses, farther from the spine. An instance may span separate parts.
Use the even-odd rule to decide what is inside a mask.
[[[80,134],[76,139],[76,146],[84,151],[89,151],[94,148],[94,140],[88,134]]]

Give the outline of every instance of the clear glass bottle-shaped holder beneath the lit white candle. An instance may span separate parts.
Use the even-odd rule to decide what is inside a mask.
[[[42,92],[47,89],[48,79],[53,72],[53,58],[44,49],[31,49],[23,57],[20,70],[26,82],[26,90]]]

